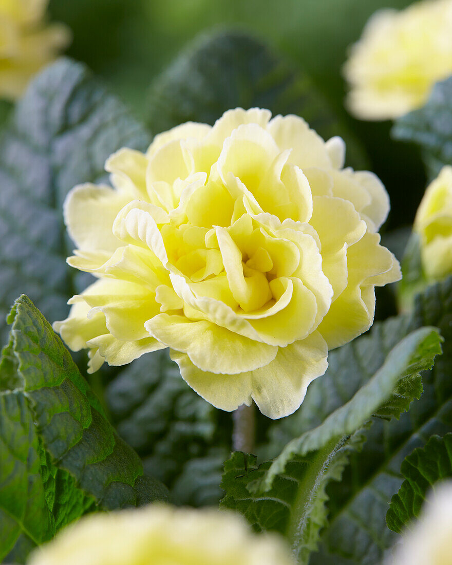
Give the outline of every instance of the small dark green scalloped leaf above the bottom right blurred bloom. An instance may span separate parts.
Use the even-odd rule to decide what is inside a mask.
[[[452,433],[432,436],[422,449],[418,447],[403,460],[401,472],[405,481],[386,514],[388,527],[397,533],[419,517],[428,491],[438,481],[452,477]]]

